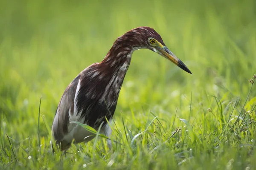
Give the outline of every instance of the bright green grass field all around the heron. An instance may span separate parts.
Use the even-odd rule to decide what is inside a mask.
[[[193,75],[135,51],[113,150],[98,136],[52,154],[67,85],[138,26],[154,28]],[[255,0],[0,0],[0,169],[255,170],[254,74]]]

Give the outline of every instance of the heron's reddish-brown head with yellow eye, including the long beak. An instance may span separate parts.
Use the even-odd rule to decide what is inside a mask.
[[[173,62],[175,65],[188,72],[189,74],[192,74],[189,68],[187,68],[186,65],[166,47],[161,36],[153,28],[134,28],[125,33],[123,36],[119,37],[119,40],[126,40],[126,43],[130,44],[134,48],[150,49],[151,51],[160,54],[166,59],[169,59],[171,62]]]

